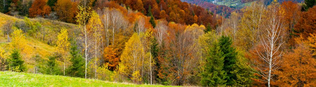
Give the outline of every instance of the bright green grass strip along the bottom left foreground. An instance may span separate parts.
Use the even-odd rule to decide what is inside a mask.
[[[56,75],[43,75],[43,74],[29,74],[29,73],[16,73],[4,71],[0,72],[0,87],[13,87],[13,86],[73,86],[73,87],[168,87],[163,85],[147,85],[147,84],[128,84],[128,83],[114,83],[95,79],[83,79],[74,78],[66,76],[56,76]],[[170,86],[169,86],[170,87]]]

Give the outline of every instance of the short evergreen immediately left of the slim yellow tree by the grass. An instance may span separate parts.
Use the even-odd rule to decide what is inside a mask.
[[[43,74],[50,74],[50,75],[61,75],[61,69],[60,67],[58,67],[57,63],[56,63],[56,59],[58,57],[61,57],[60,55],[52,55],[48,57],[48,61],[47,61],[47,67],[46,69],[44,69],[44,71],[41,71],[41,73]]]

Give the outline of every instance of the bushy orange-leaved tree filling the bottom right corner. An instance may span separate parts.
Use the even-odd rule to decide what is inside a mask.
[[[310,49],[313,44],[308,43],[316,39],[314,37],[302,42],[303,39],[297,38],[298,46],[284,55],[283,66],[276,72],[278,80],[274,84],[287,87],[316,86],[316,59]]]

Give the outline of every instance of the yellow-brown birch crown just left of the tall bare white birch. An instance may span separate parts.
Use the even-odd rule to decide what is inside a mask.
[[[245,13],[241,17],[240,29],[242,32],[239,33],[239,36],[242,37],[240,37],[240,44],[243,44],[247,50],[259,41],[265,12],[265,5],[260,1],[256,1],[245,9]]]

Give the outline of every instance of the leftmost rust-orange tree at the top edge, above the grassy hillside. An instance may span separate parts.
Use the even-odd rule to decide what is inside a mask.
[[[38,15],[45,17],[51,12],[51,8],[46,5],[46,0],[35,0],[29,9],[30,17],[36,17]]]

